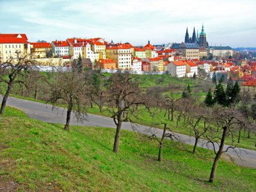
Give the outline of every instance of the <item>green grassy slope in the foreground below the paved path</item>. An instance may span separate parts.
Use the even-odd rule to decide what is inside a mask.
[[[166,141],[159,163],[157,143],[122,131],[119,154],[112,152],[115,129],[47,124],[16,109],[0,122],[0,176],[31,191],[254,191],[256,172],[220,161],[216,182],[207,183],[212,152]],[[9,116],[10,115],[10,116]],[[28,189],[29,188],[29,189]]]

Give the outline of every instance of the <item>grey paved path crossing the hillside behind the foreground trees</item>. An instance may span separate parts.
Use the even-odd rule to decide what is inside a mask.
[[[0,101],[2,99],[3,97],[0,95]],[[67,113],[66,109],[58,108],[56,111],[52,111],[52,106],[49,104],[46,105],[40,102],[17,99],[14,97],[10,97],[7,104],[8,106],[13,106],[15,108],[21,109],[30,118],[35,118],[36,120],[41,120],[49,123],[65,124],[65,115]],[[112,118],[92,114],[88,114],[88,121],[83,122],[82,124],[76,122],[76,120],[74,119],[74,114],[72,113],[70,124],[115,128],[115,124]],[[131,124],[129,124],[128,122],[124,122],[122,124],[122,129],[133,130]],[[150,132],[148,132],[149,129],[150,127],[145,125],[136,126],[136,131],[143,134],[152,134],[153,132],[159,137],[161,137],[161,135],[163,134],[163,130],[161,129],[154,128],[150,129]],[[182,143],[187,143],[189,145],[193,145],[195,143],[195,138],[191,136],[178,133],[175,133],[175,136],[179,138],[179,141],[181,141]],[[198,147],[212,149],[212,146],[204,145],[204,143],[204,140],[200,140],[200,142],[198,143]],[[225,148],[227,147],[228,145],[225,145]],[[218,146],[216,146],[216,148],[218,148]],[[239,164],[241,166],[247,166],[250,168],[256,168],[256,150],[249,150],[245,148],[230,148],[226,154],[230,156],[236,164]]]

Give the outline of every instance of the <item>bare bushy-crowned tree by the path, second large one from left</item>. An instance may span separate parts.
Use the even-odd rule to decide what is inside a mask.
[[[51,102],[53,109],[58,104],[67,107],[67,118],[64,129],[69,131],[70,117],[72,111],[75,113],[77,121],[83,122],[87,117],[88,99],[84,97],[88,92],[87,75],[80,72],[68,72],[58,70],[56,79],[51,86],[51,95],[48,102]]]

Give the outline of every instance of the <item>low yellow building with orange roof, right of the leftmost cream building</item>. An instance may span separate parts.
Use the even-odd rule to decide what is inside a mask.
[[[35,58],[52,57],[52,45],[46,42],[31,43],[31,55]]]

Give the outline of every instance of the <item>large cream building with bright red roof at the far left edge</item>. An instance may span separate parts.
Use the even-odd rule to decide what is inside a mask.
[[[25,34],[0,34],[0,62],[15,58],[15,52],[30,54],[30,44]]]

